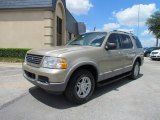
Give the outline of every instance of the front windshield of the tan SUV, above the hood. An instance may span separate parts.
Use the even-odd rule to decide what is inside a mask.
[[[106,37],[105,32],[85,33],[80,35],[77,39],[72,40],[67,45],[80,45],[80,46],[94,46],[100,47]]]

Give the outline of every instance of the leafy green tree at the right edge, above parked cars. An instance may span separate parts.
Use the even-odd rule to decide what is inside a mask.
[[[158,40],[160,38],[160,11],[155,12],[147,19],[146,25],[148,30],[152,32],[156,37],[156,46],[158,46]]]

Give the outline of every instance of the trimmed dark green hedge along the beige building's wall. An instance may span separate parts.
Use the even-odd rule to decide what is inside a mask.
[[[0,57],[24,59],[28,48],[0,48]]]

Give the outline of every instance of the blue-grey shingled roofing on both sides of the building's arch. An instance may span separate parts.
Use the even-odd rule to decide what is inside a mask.
[[[30,9],[30,8],[45,8],[54,10],[57,0],[0,0],[0,10],[10,9]],[[78,34],[78,23],[71,13],[66,8],[65,0],[62,0],[66,9],[66,22],[69,32]]]

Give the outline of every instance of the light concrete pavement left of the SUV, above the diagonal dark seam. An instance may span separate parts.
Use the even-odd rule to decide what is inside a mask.
[[[22,76],[22,65],[0,63],[0,109],[15,101],[33,85]]]

